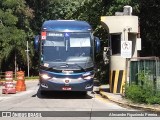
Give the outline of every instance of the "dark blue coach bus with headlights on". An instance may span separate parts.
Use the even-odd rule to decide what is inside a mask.
[[[39,54],[40,93],[93,90],[95,55],[100,40],[79,20],[47,20],[34,39]]]

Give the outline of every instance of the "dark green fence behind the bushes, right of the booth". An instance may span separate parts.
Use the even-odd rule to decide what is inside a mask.
[[[160,60],[158,57],[138,57],[130,61],[130,84],[143,84],[149,80],[154,88],[160,91]]]

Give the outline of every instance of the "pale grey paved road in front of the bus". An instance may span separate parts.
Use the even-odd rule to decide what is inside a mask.
[[[48,120],[53,118],[54,120],[114,120],[117,117],[108,116],[111,111],[135,111],[104,99],[95,92],[88,92],[85,96],[77,92],[48,92],[42,96],[39,93],[38,81],[26,81],[25,83],[26,91],[16,94],[0,93],[0,116],[3,116],[0,117],[0,120]],[[13,117],[7,117],[8,114]],[[134,117],[118,117],[123,120],[132,118]]]

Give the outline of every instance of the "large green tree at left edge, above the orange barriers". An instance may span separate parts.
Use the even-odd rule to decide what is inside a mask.
[[[29,20],[33,18],[32,10],[25,5],[24,0],[1,0],[0,2],[0,64],[3,70],[13,70],[14,59],[19,56],[16,64],[26,62],[26,40],[31,38],[32,30]],[[14,56],[12,55],[14,53]],[[23,64],[24,65],[24,64]],[[22,67],[22,66],[20,66]]]

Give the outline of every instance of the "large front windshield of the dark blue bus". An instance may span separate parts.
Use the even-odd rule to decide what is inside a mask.
[[[47,32],[42,42],[43,62],[93,62],[91,34]]]

